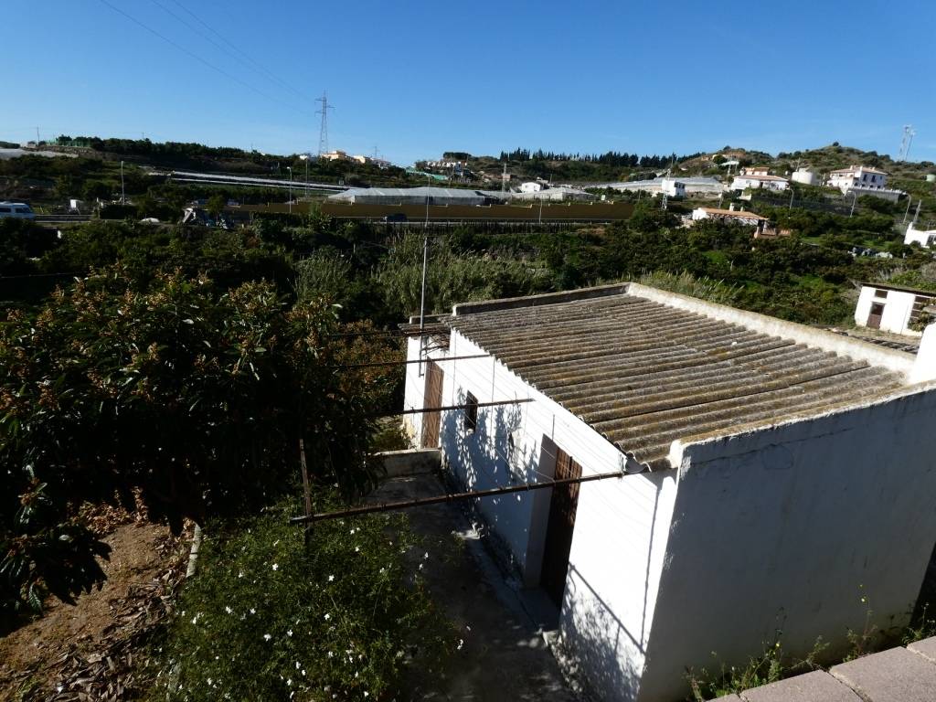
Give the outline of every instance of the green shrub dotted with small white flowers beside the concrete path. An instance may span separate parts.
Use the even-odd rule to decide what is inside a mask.
[[[432,605],[426,550],[400,514],[314,525],[281,505],[210,525],[161,649],[153,699],[400,698],[408,666],[457,641]]]

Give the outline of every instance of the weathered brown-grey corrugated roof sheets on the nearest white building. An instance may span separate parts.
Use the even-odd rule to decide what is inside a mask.
[[[865,360],[629,294],[459,313],[448,324],[653,468],[670,444],[881,396]]]

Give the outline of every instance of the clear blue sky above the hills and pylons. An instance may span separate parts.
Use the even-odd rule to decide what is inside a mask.
[[[105,0],[4,0],[0,139],[315,151],[328,90],[329,147],[401,164],[518,146],[896,155],[903,124],[911,159],[936,161],[933,0],[106,2],[178,47]]]

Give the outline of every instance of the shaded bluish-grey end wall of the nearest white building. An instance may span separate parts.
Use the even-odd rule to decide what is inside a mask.
[[[743,665],[782,629],[908,621],[936,542],[936,392],[678,448],[679,485],[639,702],[688,692],[710,651]],[[863,586],[863,587],[861,587]],[[866,596],[867,603],[860,598]]]

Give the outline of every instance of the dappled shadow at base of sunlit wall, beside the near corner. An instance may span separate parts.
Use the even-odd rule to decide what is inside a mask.
[[[640,642],[571,563],[563,599],[563,654],[580,682],[598,699],[635,700],[641,671],[630,654],[645,652]]]

